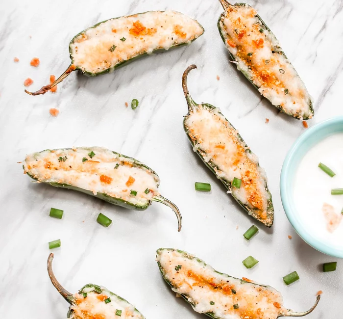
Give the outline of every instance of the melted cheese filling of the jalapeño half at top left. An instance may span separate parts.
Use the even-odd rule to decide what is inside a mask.
[[[190,17],[175,11],[150,11],[111,19],[81,32],[70,44],[73,64],[98,73],[142,53],[190,43],[203,33]]]

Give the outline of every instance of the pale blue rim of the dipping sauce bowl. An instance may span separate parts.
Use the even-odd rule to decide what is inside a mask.
[[[336,117],[324,120],[322,122],[319,122],[313,127],[306,130],[295,140],[294,144],[291,146],[290,150],[288,151],[287,156],[282,165],[281,175],[280,175],[280,195],[281,195],[282,206],[284,208],[286,216],[288,220],[290,221],[290,223],[292,224],[295,231],[298,233],[298,235],[305,242],[307,242],[310,246],[319,250],[320,252],[326,255],[333,256],[333,257],[343,258],[342,250],[339,250],[335,247],[330,247],[326,243],[320,241],[319,239],[316,239],[315,237],[310,235],[307,231],[305,231],[302,224],[295,218],[295,215],[291,208],[291,204],[289,202],[289,198],[290,197],[292,198],[293,195],[290,195],[290,192],[287,187],[287,180],[288,180],[288,176],[290,175],[289,172],[292,171],[292,169],[294,169],[291,167],[291,162],[294,159],[294,157],[297,156],[300,148],[306,142],[307,138],[311,136],[312,134],[320,132],[326,127],[333,126],[333,124],[343,125],[343,116],[336,116]],[[319,133],[317,141],[319,142],[322,138],[323,138],[322,135]]]

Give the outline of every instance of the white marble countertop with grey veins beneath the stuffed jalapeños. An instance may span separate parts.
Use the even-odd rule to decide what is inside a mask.
[[[276,34],[314,98],[316,115],[309,125],[342,115],[342,1],[249,3]],[[50,74],[58,76],[67,68],[68,43],[82,29],[112,17],[159,9],[196,18],[204,35],[189,47],[137,60],[114,74],[94,79],[73,74],[55,94],[24,93],[27,77],[34,80],[30,89],[38,89],[48,83]],[[76,292],[86,283],[106,286],[149,319],[204,318],[175,298],[163,281],[155,262],[159,247],[180,248],[222,272],[268,283],[282,292],[286,307],[296,311],[310,308],[322,290],[317,310],[307,318],[342,318],[343,264],[339,261],[336,272],[321,272],[322,263],[336,259],[300,239],[281,205],[282,162],[304,128],[300,121],[278,113],[228,62],[217,29],[221,12],[216,0],[12,0],[2,6],[1,319],[66,318],[68,304],[46,271],[48,241],[58,238],[62,246],[54,250],[54,269],[66,289]],[[15,56],[18,63],[13,62]],[[29,65],[34,56],[40,58],[38,68]],[[267,170],[275,207],[271,230],[225,194],[188,142],[182,126],[187,106],[181,76],[192,63],[198,66],[189,76],[194,99],[219,106]],[[140,101],[139,107],[125,108],[133,98]],[[58,117],[49,115],[51,107],[60,110]],[[183,214],[181,233],[174,214],[163,205],[128,211],[81,193],[33,184],[17,164],[27,153],[72,146],[103,146],[155,169],[161,193]],[[196,192],[196,181],[211,183],[212,191]],[[50,218],[50,207],[63,209],[63,219]],[[108,229],[95,221],[99,212],[112,218]],[[242,235],[251,224],[260,233],[246,242]],[[253,269],[242,265],[249,255],[260,261]],[[294,270],[300,281],[287,287],[282,277]]]

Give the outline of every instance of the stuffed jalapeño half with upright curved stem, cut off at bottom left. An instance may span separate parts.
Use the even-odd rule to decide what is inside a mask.
[[[57,281],[52,271],[53,254],[48,258],[48,274],[52,285],[70,303],[67,317],[72,319],[145,319],[128,301],[107,288],[88,284],[79,292],[70,293]],[[115,317],[114,317],[115,315]]]

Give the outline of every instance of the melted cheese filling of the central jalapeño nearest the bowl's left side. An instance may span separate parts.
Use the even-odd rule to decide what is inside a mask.
[[[258,165],[255,154],[246,151],[238,132],[221,115],[218,108],[209,111],[202,105],[190,112],[185,121],[190,137],[206,162],[217,166],[216,174],[232,182],[236,177],[242,180],[240,188],[232,187],[232,194],[258,211],[261,219],[267,218],[270,194],[266,190],[267,176]]]

